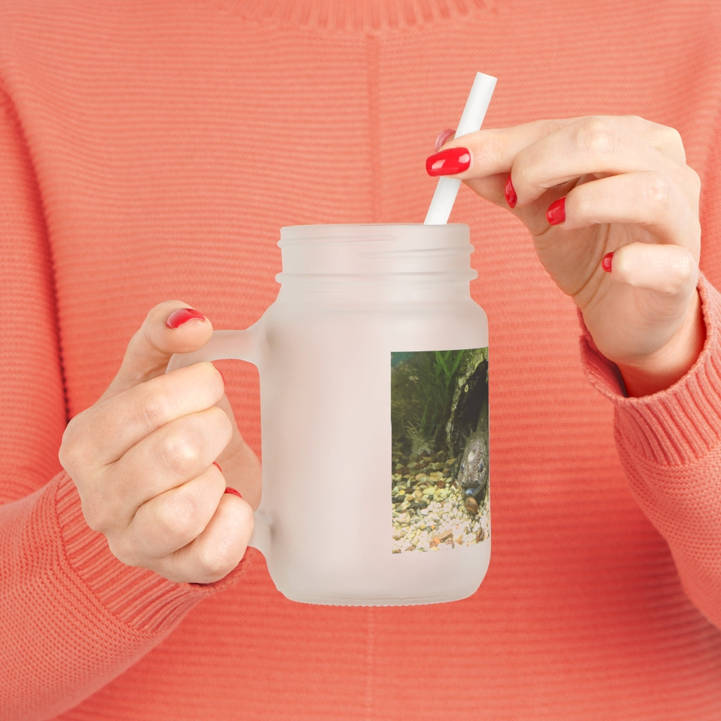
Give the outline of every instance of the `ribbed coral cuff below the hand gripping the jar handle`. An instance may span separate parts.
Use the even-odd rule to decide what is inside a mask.
[[[105,536],[87,526],[72,479],[63,473],[56,484],[58,524],[71,572],[112,616],[138,632],[169,631],[199,601],[244,573],[245,559],[223,580],[200,585],[173,583],[152,571],[127,566],[112,555]]]

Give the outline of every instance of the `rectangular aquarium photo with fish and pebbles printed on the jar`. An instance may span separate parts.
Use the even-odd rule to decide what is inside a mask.
[[[488,349],[391,354],[392,552],[490,533]]]

